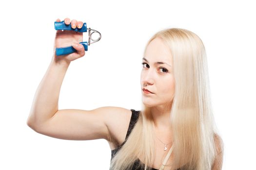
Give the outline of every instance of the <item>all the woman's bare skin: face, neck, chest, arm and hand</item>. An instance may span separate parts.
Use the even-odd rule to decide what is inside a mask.
[[[57,19],[56,21],[60,21]],[[72,28],[81,28],[83,22],[76,19],[65,18],[66,24]],[[69,140],[93,140],[104,138],[109,142],[111,150],[115,149],[125,140],[132,112],[121,107],[100,107],[93,110],[62,109],[58,108],[59,91],[65,73],[71,61],[85,55],[84,48],[79,42],[82,41],[82,33],[58,30],[54,41],[54,54],[49,68],[37,89],[30,115],[27,119],[29,127],[43,135]],[[73,43],[78,46],[75,47]],[[55,48],[71,46],[77,50],[74,53],[56,56]],[[172,141],[170,127],[170,110],[165,108],[164,103],[173,99],[174,80],[172,68],[168,65],[154,65],[155,62],[166,62],[172,66],[172,57],[169,51],[159,39],[155,39],[146,51],[147,64],[141,71],[141,88],[145,87],[154,94],[144,94],[143,103],[152,107],[155,121],[155,133],[164,143]],[[145,61],[143,61],[145,62]],[[168,73],[166,73],[166,69]],[[153,168],[158,169],[164,153],[164,145],[156,138],[156,158]],[[172,160],[172,155],[170,161]],[[215,169],[214,169],[215,170]],[[217,170],[217,169],[216,169]]]

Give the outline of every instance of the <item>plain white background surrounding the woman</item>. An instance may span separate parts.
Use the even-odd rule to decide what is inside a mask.
[[[256,6],[249,0],[52,0],[0,2],[0,169],[108,170],[104,139],[44,136],[26,120],[52,58],[54,21],[77,19],[102,38],[73,61],[59,109],[141,109],[141,58],[148,39],[184,28],[203,41],[215,119],[224,141],[222,170],[255,169]],[[94,38],[96,39],[96,38]],[[84,33],[88,41],[88,33]]]

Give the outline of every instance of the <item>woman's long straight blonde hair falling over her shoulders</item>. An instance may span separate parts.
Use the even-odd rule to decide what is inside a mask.
[[[167,45],[173,56],[175,94],[173,101],[166,104],[172,107],[172,167],[180,167],[180,170],[211,170],[217,156],[219,135],[210,98],[204,45],[193,32],[171,28],[154,34],[146,48],[157,37]],[[125,144],[111,160],[110,170],[131,170],[138,157],[142,159],[138,166],[151,170],[156,148],[152,133],[154,121],[150,107],[141,104],[138,121]],[[166,166],[167,169],[170,167]]]

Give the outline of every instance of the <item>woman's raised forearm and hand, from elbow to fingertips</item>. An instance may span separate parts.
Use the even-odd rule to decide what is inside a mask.
[[[57,19],[56,21],[60,20]],[[65,23],[70,24],[68,21],[69,18],[66,18]],[[75,27],[77,27],[78,22],[76,20],[73,19],[72,23],[75,23]],[[76,33],[68,30],[58,30],[56,32],[53,57],[37,88],[27,119],[27,124],[31,128],[39,128],[42,123],[52,118],[58,111],[59,91],[70,62],[85,54],[83,46],[78,43],[81,39],[82,33],[79,32]],[[70,46],[73,43],[79,45],[78,47],[74,47],[77,52],[62,56],[55,55],[56,48]]]

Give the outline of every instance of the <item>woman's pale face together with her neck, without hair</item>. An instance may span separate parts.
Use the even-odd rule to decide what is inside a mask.
[[[145,94],[142,91],[142,102],[151,107],[157,133],[171,133],[169,129],[171,107],[168,108],[166,104],[172,103],[175,90],[172,54],[160,38],[155,38],[148,45],[143,58],[145,60],[142,59],[144,64],[140,76],[141,88],[147,88],[154,94]],[[166,64],[156,64],[156,62]],[[163,136],[158,138],[160,137],[163,139]],[[163,142],[169,143],[170,140]]]

